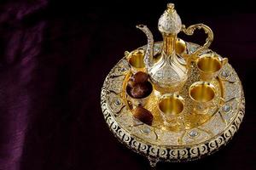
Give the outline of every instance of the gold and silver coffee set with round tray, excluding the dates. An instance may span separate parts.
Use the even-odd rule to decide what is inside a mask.
[[[209,49],[212,30],[203,24],[184,26],[174,4],[168,3],[154,42],[147,26],[138,25],[148,44],[125,52],[108,73],[102,87],[103,116],[122,144],[158,161],[192,161],[227,144],[238,130],[245,111],[241,81],[228,59]],[[205,44],[185,42],[196,29],[207,34]],[[141,99],[127,93],[127,83],[139,71],[148,74],[152,92]],[[153,115],[152,124],[133,116],[137,107]]]

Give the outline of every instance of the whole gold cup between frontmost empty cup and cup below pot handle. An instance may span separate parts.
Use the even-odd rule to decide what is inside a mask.
[[[194,82],[189,87],[189,97],[192,99],[194,111],[198,114],[206,114],[207,109],[213,106],[216,96],[215,87],[210,82]]]

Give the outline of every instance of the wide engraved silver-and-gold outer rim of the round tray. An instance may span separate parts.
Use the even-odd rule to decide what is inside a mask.
[[[187,42],[187,44],[190,43]],[[188,45],[188,48],[192,46],[193,44]],[[241,125],[245,114],[245,99],[239,77],[231,65],[226,65],[223,69],[224,71],[230,71],[228,80],[232,81],[221,79],[221,82],[224,86],[224,100],[227,100],[226,104],[231,106],[232,113],[225,113],[220,108],[218,113],[205,124],[179,133],[144,124],[132,126],[131,111],[126,108],[125,101],[122,98],[125,71],[118,69],[122,67],[127,70],[130,69],[125,58],[113,67],[103,83],[101,93],[102,113],[110,131],[122,144],[150,160],[193,161],[208,156],[227,144]],[[148,134],[142,133],[143,127],[148,128]],[[146,135],[148,135],[147,138],[143,138]],[[173,139],[179,139],[181,143],[179,144]],[[186,141],[183,141],[183,139]]]

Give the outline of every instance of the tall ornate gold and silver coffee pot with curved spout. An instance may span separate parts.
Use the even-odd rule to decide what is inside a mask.
[[[213,40],[212,30],[203,24],[186,28],[177,14],[174,4],[168,3],[166,11],[160,16],[158,29],[163,36],[160,56],[154,56],[154,38],[147,26],[138,25],[148,37],[148,45],[144,56],[144,64],[154,88],[160,93],[174,93],[183,88],[188,79],[189,61],[196,59],[202,49],[208,48]],[[177,33],[183,31],[193,35],[195,29],[204,29],[207,33],[207,42],[197,48],[193,54],[186,54],[186,43],[177,38]]]

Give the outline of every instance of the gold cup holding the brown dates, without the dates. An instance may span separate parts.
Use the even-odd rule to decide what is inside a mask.
[[[151,84],[151,82],[145,82],[146,85],[148,86],[148,89],[150,91],[150,93],[148,93],[147,96],[143,97],[143,98],[134,98],[132,95],[131,95],[131,87],[129,86],[126,86],[126,95],[127,95],[127,100],[131,101],[131,104],[132,106],[134,107],[137,107],[137,106],[144,106],[147,104],[148,102],[148,98],[150,97],[150,95],[152,94],[153,92],[153,86]]]

